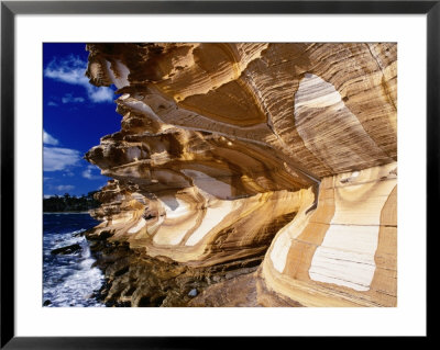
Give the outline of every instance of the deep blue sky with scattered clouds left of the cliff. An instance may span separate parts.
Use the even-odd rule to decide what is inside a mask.
[[[84,155],[120,129],[116,88],[96,88],[85,76],[86,44],[43,44],[43,193],[87,194],[107,183]]]

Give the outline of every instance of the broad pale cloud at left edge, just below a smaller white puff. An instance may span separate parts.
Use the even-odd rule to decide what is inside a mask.
[[[77,166],[81,160],[81,153],[76,149],[46,147],[43,149],[44,171],[64,170],[72,166]]]

